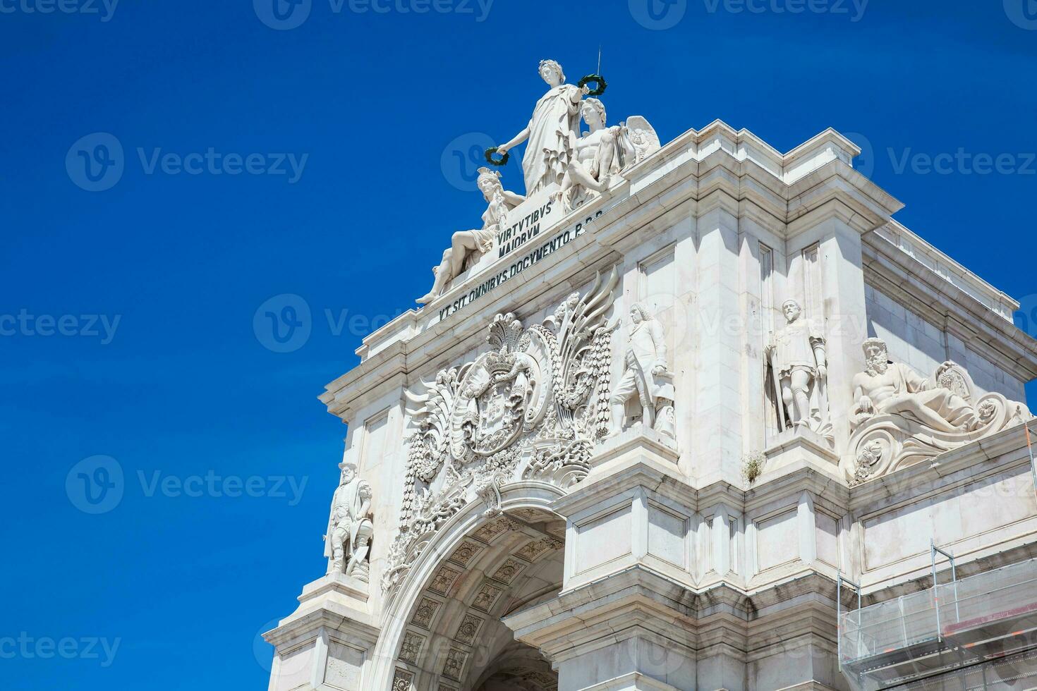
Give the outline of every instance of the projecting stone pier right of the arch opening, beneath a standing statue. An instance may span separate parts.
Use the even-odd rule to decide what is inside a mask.
[[[568,523],[562,594],[504,623],[548,656],[559,691],[697,688],[695,514],[681,478],[650,430],[623,435],[553,506]]]

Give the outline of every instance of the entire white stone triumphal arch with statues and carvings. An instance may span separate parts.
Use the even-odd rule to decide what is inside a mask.
[[[835,131],[663,143],[539,77],[481,224],[443,220],[421,307],[320,397],[328,570],[271,690],[867,687],[859,595],[931,587],[933,545],[956,578],[1037,551],[1017,304]]]

